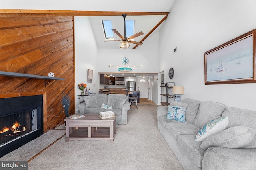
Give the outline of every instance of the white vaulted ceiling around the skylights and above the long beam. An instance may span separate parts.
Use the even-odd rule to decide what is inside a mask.
[[[2,9],[27,9],[27,10],[74,10],[74,11],[113,11],[113,12],[170,12],[174,0],[6,0],[1,2]],[[135,20],[134,33],[142,31],[144,35],[136,37],[140,41],[145,37],[165,15],[127,16],[126,20]],[[120,41],[103,42],[105,40],[102,20],[112,20],[112,28],[124,35],[124,18],[120,16],[90,16],[90,22],[98,48],[119,48]],[[152,32],[160,30],[162,24]],[[114,39],[120,39],[114,33]],[[143,43],[143,42],[142,42]],[[130,44],[130,48],[135,45]],[[137,48],[139,48],[138,46]]]

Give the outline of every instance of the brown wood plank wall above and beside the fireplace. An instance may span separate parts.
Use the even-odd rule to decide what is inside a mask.
[[[0,94],[46,92],[47,120],[44,132],[64,123],[62,97],[70,97],[70,114],[74,102],[74,18],[6,17],[0,18],[0,71],[55,77],[65,80],[45,81],[32,78],[0,76]]]

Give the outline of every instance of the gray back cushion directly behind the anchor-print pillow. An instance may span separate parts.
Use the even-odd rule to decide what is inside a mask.
[[[182,103],[188,104],[185,114],[186,121],[193,123],[194,119],[196,118],[196,114],[198,113],[199,104],[201,102],[198,100],[186,98],[182,100]]]

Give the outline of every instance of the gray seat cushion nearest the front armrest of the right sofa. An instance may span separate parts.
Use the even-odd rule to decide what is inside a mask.
[[[190,160],[193,160],[193,163],[201,167],[202,160],[204,156],[204,149],[200,148],[202,142],[195,141],[194,135],[179,135],[177,143],[180,146],[180,150],[188,156]]]

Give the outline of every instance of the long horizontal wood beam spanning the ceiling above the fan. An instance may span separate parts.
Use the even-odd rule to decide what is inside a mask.
[[[143,16],[168,15],[169,12],[117,12],[117,11],[71,11],[71,10],[16,10],[0,9],[0,17],[14,16]]]

